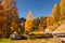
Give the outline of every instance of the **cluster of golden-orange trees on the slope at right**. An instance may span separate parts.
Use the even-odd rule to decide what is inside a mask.
[[[49,26],[55,27],[54,24],[58,25],[58,22],[62,23],[62,20],[65,19],[65,0],[61,0],[60,4],[54,4],[54,8],[52,9],[51,18],[52,18],[52,22],[50,17],[47,18],[47,22],[48,22],[47,27]],[[50,23],[52,23],[52,25]]]

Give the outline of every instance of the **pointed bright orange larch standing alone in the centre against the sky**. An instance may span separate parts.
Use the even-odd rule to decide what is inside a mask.
[[[25,33],[30,32],[32,29],[32,14],[31,11],[28,12],[27,19],[25,22]]]

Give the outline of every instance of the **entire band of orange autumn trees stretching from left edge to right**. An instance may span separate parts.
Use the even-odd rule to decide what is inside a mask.
[[[52,28],[53,24],[65,19],[65,0],[61,0],[60,4],[54,4],[52,15],[47,17],[37,17],[32,19],[31,11],[28,12],[26,22],[22,25],[22,30],[18,27],[18,14],[16,0],[2,0],[0,2],[0,38],[9,38],[14,31],[30,32],[31,30],[44,31],[46,28]],[[57,25],[57,24],[56,24]]]

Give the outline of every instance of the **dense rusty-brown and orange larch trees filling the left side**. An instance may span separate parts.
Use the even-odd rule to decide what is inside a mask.
[[[10,38],[14,31],[18,31],[18,14],[16,9],[16,0],[2,0],[0,10],[1,20],[1,38]],[[14,27],[15,26],[15,27]]]

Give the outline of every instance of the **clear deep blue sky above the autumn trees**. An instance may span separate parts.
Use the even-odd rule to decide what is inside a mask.
[[[51,15],[54,4],[60,2],[61,0],[17,0],[18,14],[26,18],[31,10],[34,18]]]

